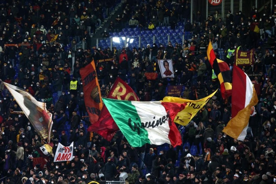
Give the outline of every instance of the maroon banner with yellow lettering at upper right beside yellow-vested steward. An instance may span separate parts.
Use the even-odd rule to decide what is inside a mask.
[[[254,64],[254,54],[255,49],[251,49],[249,51],[241,51],[237,49],[235,53],[236,66],[246,66]]]

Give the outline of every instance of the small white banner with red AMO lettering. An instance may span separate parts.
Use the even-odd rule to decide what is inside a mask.
[[[73,145],[74,142],[72,142],[70,146],[63,146],[59,143],[56,149],[54,162],[71,161],[73,159]]]

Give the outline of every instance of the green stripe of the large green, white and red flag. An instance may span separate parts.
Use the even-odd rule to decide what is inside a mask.
[[[151,144],[148,131],[142,128],[140,117],[131,101],[105,98],[102,98],[102,100],[132,147],[140,147],[146,143]],[[117,108],[113,108],[114,106]]]

